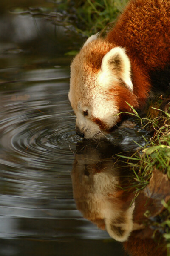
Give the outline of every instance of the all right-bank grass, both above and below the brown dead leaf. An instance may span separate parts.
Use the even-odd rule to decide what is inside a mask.
[[[157,107],[152,107],[150,110],[144,118],[141,118],[135,109],[132,113],[139,119],[141,129],[149,129],[152,132],[150,141],[146,141],[144,147],[139,145],[139,149],[131,157],[119,155],[121,158],[128,159],[127,163],[134,173],[132,186],[136,194],[149,184],[155,168],[167,174],[170,179],[170,104],[167,104],[167,111]],[[151,112],[155,112],[156,116],[153,117]],[[170,256],[170,201],[167,203],[162,201],[162,204],[165,210],[159,214],[160,221],[153,222],[151,225],[154,226],[155,232],[159,231],[164,237],[167,256]]]

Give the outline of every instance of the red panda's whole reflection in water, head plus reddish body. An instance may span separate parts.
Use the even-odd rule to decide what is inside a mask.
[[[109,141],[77,144],[71,173],[73,195],[82,215],[117,241],[124,242],[132,255],[166,255],[151,239],[153,230],[144,228],[146,211],[156,216],[156,200],[140,193],[135,198],[127,166],[112,156],[121,151]],[[108,158],[109,157],[109,158]]]

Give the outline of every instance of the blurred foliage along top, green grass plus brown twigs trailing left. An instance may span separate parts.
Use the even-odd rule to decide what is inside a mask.
[[[57,26],[89,37],[107,31],[128,0],[51,0],[49,6],[16,7],[11,12],[44,18]]]

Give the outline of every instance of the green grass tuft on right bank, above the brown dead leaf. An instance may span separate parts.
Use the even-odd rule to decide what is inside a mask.
[[[167,173],[170,179],[170,106],[168,112],[155,107],[152,109],[159,114],[152,119],[141,118],[135,109],[130,114],[140,120],[141,129],[149,129],[152,132],[150,141],[144,138],[146,145],[144,147],[139,145],[139,149],[130,157],[121,155],[122,158],[128,159],[127,162],[133,170],[137,183],[136,190],[143,189],[149,183],[154,168]],[[150,115],[148,112],[147,116]]]

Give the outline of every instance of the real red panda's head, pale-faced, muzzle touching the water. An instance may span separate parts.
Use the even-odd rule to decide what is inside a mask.
[[[77,116],[76,133],[86,139],[111,132],[133,98],[125,49],[92,35],[71,63],[68,98]],[[134,105],[134,104],[133,104]]]

